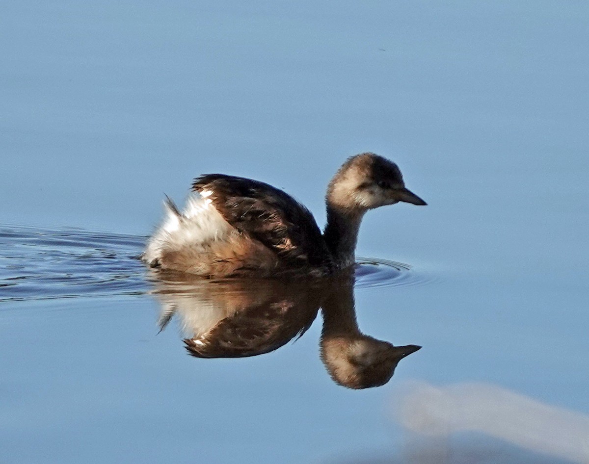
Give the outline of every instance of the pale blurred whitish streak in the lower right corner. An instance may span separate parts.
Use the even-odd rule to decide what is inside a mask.
[[[589,464],[589,416],[484,384],[411,385],[398,418],[412,432],[473,430],[534,452]]]

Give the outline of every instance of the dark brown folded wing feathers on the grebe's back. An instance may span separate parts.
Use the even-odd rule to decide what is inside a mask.
[[[225,174],[201,175],[193,190],[210,190],[214,207],[231,226],[279,254],[289,266],[330,266],[315,218],[282,190]]]

